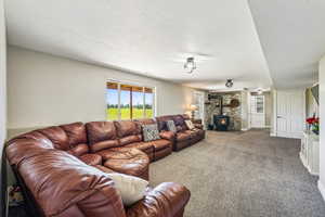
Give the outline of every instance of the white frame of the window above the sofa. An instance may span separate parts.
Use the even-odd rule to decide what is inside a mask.
[[[106,98],[107,98],[107,84],[108,82],[115,82],[115,84],[117,84],[117,110],[118,110],[118,112],[117,112],[117,119],[108,119],[107,118],[107,101],[106,101]],[[141,117],[141,118],[154,118],[155,116],[156,116],[156,104],[157,104],[157,102],[156,102],[156,93],[157,93],[157,91],[156,91],[156,87],[154,87],[154,86],[144,86],[144,85],[142,85],[142,84],[140,84],[140,82],[136,82],[136,81],[122,81],[122,80],[114,80],[114,79],[107,79],[106,80],[106,82],[105,82],[105,107],[106,107],[106,111],[105,111],[105,119],[106,120],[108,120],[108,122],[113,122],[113,120],[122,120],[121,119],[121,112],[120,112],[120,87],[122,86],[122,85],[126,85],[126,86],[135,86],[135,87],[141,87],[142,88],[142,93],[143,93],[143,117]],[[150,88],[150,89],[152,89],[153,90],[153,116],[152,117],[146,117],[146,113],[145,113],[145,88]],[[131,93],[132,94],[132,93]],[[133,106],[133,105],[132,105]],[[130,105],[130,107],[131,107],[131,105]],[[130,111],[131,112],[131,111]],[[132,119],[136,119],[136,118],[133,118],[132,117]]]

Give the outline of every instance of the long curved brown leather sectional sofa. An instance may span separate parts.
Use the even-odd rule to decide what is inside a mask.
[[[168,131],[173,119],[178,132]],[[74,123],[18,136],[8,142],[6,156],[23,187],[30,216],[181,217],[190,191],[178,183],[148,189],[145,197],[123,207],[107,174],[148,180],[150,162],[205,137],[202,126],[187,130],[186,115],[157,117],[159,140],[144,142],[141,125],[155,119]],[[94,169],[96,168],[96,169]]]

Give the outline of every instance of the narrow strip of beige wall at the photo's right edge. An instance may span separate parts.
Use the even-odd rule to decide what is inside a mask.
[[[320,62],[320,180],[318,188],[325,200],[325,56]]]

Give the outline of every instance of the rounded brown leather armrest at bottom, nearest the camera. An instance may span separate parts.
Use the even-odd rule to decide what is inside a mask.
[[[191,192],[181,184],[165,182],[127,210],[128,217],[174,217],[184,210]]]

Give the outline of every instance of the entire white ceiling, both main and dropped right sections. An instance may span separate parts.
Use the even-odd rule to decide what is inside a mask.
[[[5,10],[10,44],[209,90],[226,78],[233,90],[307,87],[325,54],[324,0],[6,0]]]

